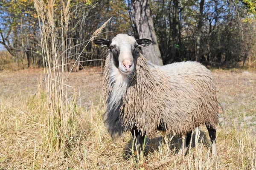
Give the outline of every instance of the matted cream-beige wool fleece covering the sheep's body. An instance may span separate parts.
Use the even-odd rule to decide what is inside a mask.
[[[109,84],[111,57],[105,63],[103,92],[108,105],[112,85]],[[218,125],[218,102],[211,72],[198,62],[178,62],[156,66],[142,54],[135,58],[136,67],[118,108],[118,116],[105,112],[105,124],[113,138],[134,126],[151,136],[157,126],[167,134],[186,135],[206,123]],[[113,111],[113,110],[112,110]],[[115,122],[119,122],[113,125]]]

